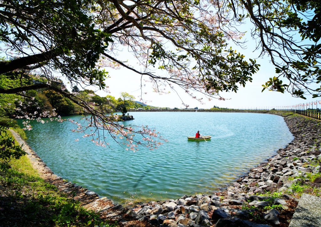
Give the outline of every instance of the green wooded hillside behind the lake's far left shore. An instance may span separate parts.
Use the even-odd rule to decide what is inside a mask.
[[[23,80],[20,80],[19,74],[13,73],[11,76],[4,76],[0,74],[0,88],[15,86],[21,83],[24,86],[31,86],[41,83],[41,80],[39,80],[37,76],[31,74],[28,76],[28,78]],[[88,103],[93,109],[99,109],[106,114],[112,112],[127,113],[128,110],[132,108],[155,108],[153,106],[143,104],[142,102],[134,101],[135,97],[127,92],[121,92],[120,97],[116,99],[111,95],[100,97],[99,95],[95,94],[94,91],[88,89],[81,91],[77,86],[74,86],[72,88],[72,92],[69,92],[61,80],[57,80],[54,86],[59,88],[63,87],[64,92],[77,95],[86,103]],[[29,97],[32,97],[31,101]],[[25,115],[22,115],[22,112],[20,111],[22,108],[24,108],[24,112],[29,112],[33,115],[37,115],[37,113],[40,113],[40,111],[48,111],[50,114],[56,113],[60,116],[90,113],[86,108],[80,107],[56,90],[48,88],[28,90],[23,92],[22,95],[0,93],[0,117],[26,118]]]

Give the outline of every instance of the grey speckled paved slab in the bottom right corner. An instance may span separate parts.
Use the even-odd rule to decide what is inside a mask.
[[[321,226],[321,198],[303,194],[289,227]]]

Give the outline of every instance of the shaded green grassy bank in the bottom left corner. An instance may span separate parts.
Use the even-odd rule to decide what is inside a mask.
[[[117,226],[41,179],[27,156],[12,160],[10,166],[0,172],[1,226]]]

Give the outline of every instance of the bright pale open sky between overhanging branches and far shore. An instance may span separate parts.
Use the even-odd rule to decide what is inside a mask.
[[[146,84],[143,88],[143,92],[147,94],[143,95],[143,102],[157,107],[169,107],[169,108],[185,108],[182,104],[189,105],[189,108],[198,107],[203,109],[212,108],[214,105],[218,107],[227,107],[227,108],[275,108],[277,106],[288,106],[299,103],[305,103],[307,101],[316,101],[319,99],[312,99],[311,96],[306,96],[307,100],[301,98],[292,97],[290,93],[281,92],[272,92],[265,90],[262,91],[262,84],[264,84],[270,77],[276,76],[275,67],[269,62],[269,57],[264,56],[263,58],[257,58],[259,56],[259,51],[255,50],[255,41],[253,41],[250,36],[249,26],[244,25],[244,30],[248,32],[243,37],[243,41],[247,40],[246,46],[247,49],[242,49],[235,44],[231,43],[233,49],[236,49],[241,54],[245,55],[245,59],[252,58],[256,59],[257,63],[261,65],[258,73],[252,76],[253,82],[248,82],[246,86],[239,87],[237,93],[234,92],[222,92],[220,95],[226,100],[208,100],[204,97],[203,102],[191,98],[188,96],[185,91],[182,89],[177,89],[179,96],[174,91],[170,91],[167,94],[159,94],[153,92],[152,84]],[[119,58],[126,59],[128,52],[119,52]],[[128,61],[131,65],[135,65],[134,58],[128,56]],[[134,95],[137,101],[140,101],[139,96],[141,95],[140,84],[141,84],[141,75],[135,74],[133,71],[130,71],[126,68],[121,69],[111,69],[106,68],[110,78],[106,79],[105,83],[109,87],[109,95],[112,95],[116,98],[120,97],[120,92],[127,92],[131,95]],[[145,77],[147,79],[147,77]],[[144,79],[144,77],[143,77]],[[284,80],[283,80],[284,81]],[[100,96],[106,96],[108,93],[103,91],[96,92]],[[203,97],[201,94],[194,93],[198,97]],[[183,101],[182,101],[182,100]]]

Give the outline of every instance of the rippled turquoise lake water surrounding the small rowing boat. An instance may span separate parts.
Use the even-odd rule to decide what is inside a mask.
[[[75,125],[35,122],[28,144],[57,175],[116,202],[160,200],[228,185],[293,136],[280,116],[256,113],[134,112],[133,125],[156,127],[169,142],[157,150],[110,148],[71,132]],[[72,119],[79,120],[79,116]],[[200,130],[210,141],[187,141]],[[75,141],[79,139],[78,142]]]

